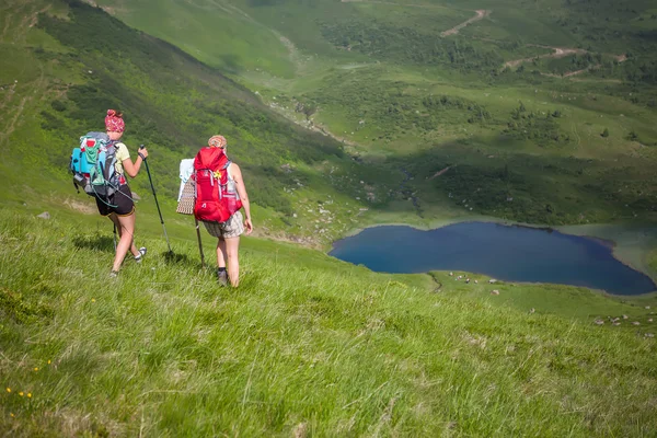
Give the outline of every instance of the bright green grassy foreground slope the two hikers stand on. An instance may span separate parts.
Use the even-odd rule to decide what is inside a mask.
[[[655,342],[251,245],[107,277],[108,233],[0,211],[11,436],[647,436]],[[309,252],[310,254],[311,252]],[[318,253],[314,253],[318,254]],[[9,392],[11,390],[11,392]],[[22,393],[22,394],[21,394]],[[30,397],[28,397],[30,394]]]

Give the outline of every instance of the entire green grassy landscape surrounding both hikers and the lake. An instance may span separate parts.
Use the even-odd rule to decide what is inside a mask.
[[[369,224],[482,218],[614,239],[655,278],[653,27],[635,3],[3,2],[0,434],[652,435],[654,293],[374,274],[316,251]],[[491,12],[445,35],[475,10]],[[505,68],[557,46],[600,67]],[[149,147],[173,249],[140,174],[149,253],[114,281],[110,222],[67,172],[107,107],[132,153]],[[239,289],[173,214],[180,159],[217,132],[253,201]]]

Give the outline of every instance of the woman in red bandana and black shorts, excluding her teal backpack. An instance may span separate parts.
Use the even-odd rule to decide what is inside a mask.
[[[115,170],[118,174],[118,189],[112,195],[110,201],[106,203],[99,196],[95,196],[96,206],[101,216],[106,216],[114,222],[115,229],[118,231],[118,244],[116,245],[116,255],[112,265],[111,277],[116,277],[118,269],[123,264],[128,251],[135,256],[135,262],[140,263],[146,255],[146,246],[137,250],[134,241],[135,233],[135,203],[132,200],[132,192],[128,186],[125,174],[130,177],[137,176],[141,169],[141,163],[148,157],[146,148],[139,150],[139,157],[132,163],[128,148],[120,142],[120,138],[125,130],[125,122],[123,114],[114,110],[107,110],[105,117],[105,130],[110,137],[111,143],[116,148],[116,164]]]

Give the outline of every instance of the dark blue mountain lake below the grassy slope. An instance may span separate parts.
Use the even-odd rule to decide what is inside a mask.
[[[489,222],[429,231],[368,228],[336,242],[330,254],[384,273],[466,270],[509,281],[585,286],[615,295],[657,290],[648,276],[614,258],[608,242]]]

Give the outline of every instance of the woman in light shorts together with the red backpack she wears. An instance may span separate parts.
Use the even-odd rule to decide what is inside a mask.
[[[223,136],[214,136],[194,159],[196,204],[194,215],[217,238],[217,279],[220,285],[240,284],[240,235],[251,234],[251,205],[240,166],[226,155]],[[244,218],[240,209],[244,208]],[[228,270],[227,270],[228,265]]]

